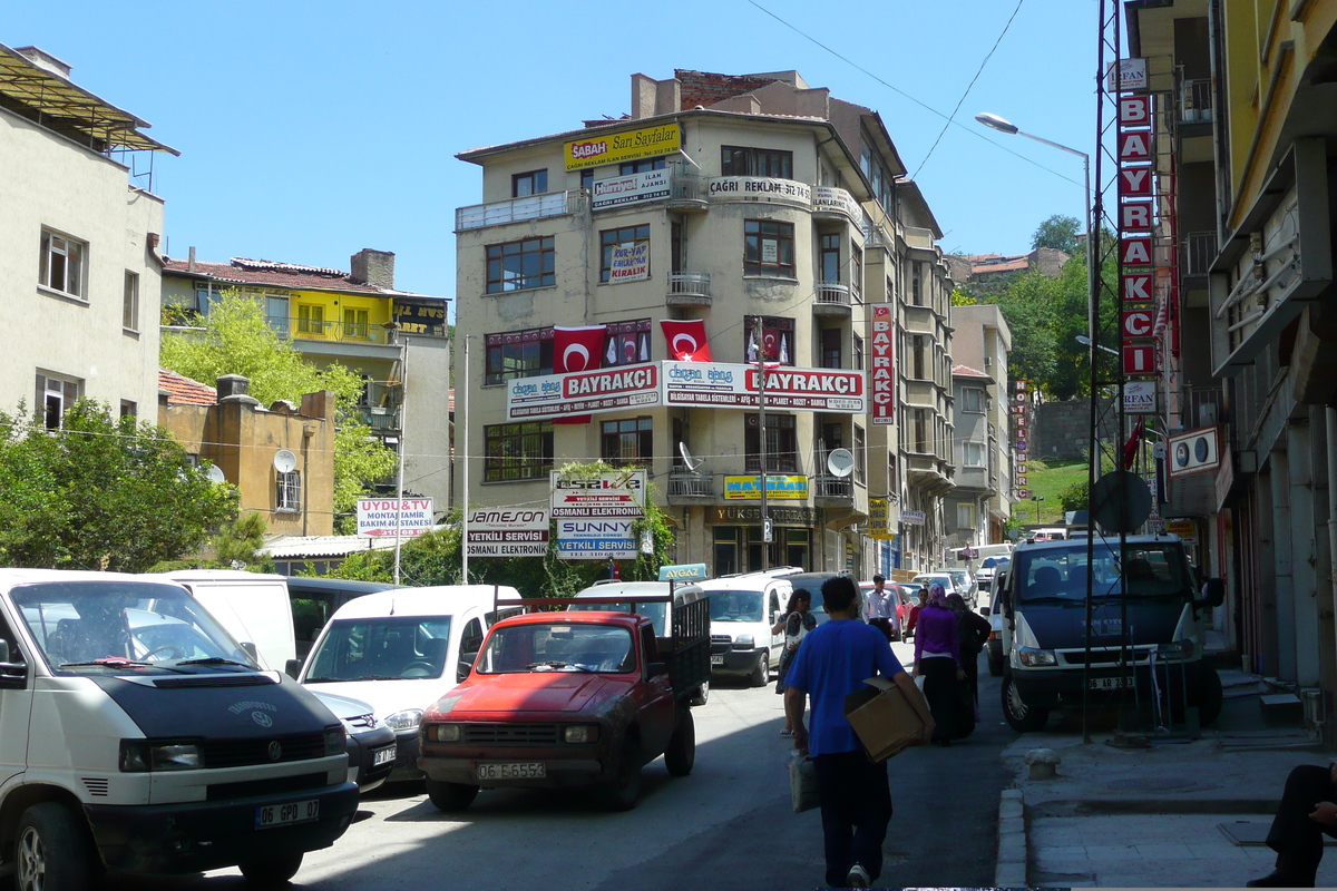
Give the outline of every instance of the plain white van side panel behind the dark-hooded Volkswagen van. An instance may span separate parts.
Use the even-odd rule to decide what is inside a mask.
[[[237,569],[185,569],[144,576],[182,585],[233,637],[255,645],[262,668],[283,671],[297,659],[287,578]]]

